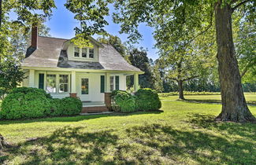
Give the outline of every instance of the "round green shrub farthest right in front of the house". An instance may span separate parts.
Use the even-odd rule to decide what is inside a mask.
[[[139,89],[135,96],[135,105],[140,111],[154,111],[161,108],[161,101],[156,90]]]

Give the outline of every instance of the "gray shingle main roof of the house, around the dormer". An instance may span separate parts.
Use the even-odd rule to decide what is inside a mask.
[[[40,37],[38,38],[38,49],[35,49],[22,63],[22,67],[37,68],[80,68],[99,69],[111,71],[135,71],[141,72],[121,57],[113,46],[102,44],[99,48],[99,61],[69,61],[65,50],[62,50],[64,42],[68,39]],[[28,51],[29,52],[29,51]]]

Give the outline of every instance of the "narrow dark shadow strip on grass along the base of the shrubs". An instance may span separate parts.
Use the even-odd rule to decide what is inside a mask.
[[[98,115],[90,115],[90,116],[61,116],[61,117],[46,117],[39,119],[22,119],[22,120],[0,120],[1,125],[12,124],[12,123],[35,123],[35,122],[79,122],[81,120],[87,119],[98,119],[103,117],[110,116],[136,116],[143,114],[160,114],[164,112],[162,110],[151,111],[151,112],[130,112],[130,113],[121,113],[114,112],[112,114],[98,114]]]

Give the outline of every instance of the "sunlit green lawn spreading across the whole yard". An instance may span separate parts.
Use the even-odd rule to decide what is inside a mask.
[[[254,123],[216,123],[221,105],[176,98],[162,98],[164,112],[2,121],[1,134],[16,147],[0,152],[0,164],[255,163]]]

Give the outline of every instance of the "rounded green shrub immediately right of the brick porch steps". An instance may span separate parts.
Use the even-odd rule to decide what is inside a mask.
[[[135,112],[135,97],[123,90],[114,90],[111,94],[112,108],[116,112]]]

